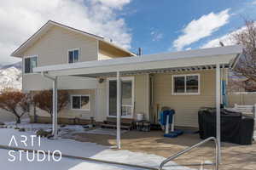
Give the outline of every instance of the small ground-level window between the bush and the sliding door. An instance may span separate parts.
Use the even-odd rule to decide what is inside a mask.
[[[72,95],[71,109],[90,111],[90,95]]]

